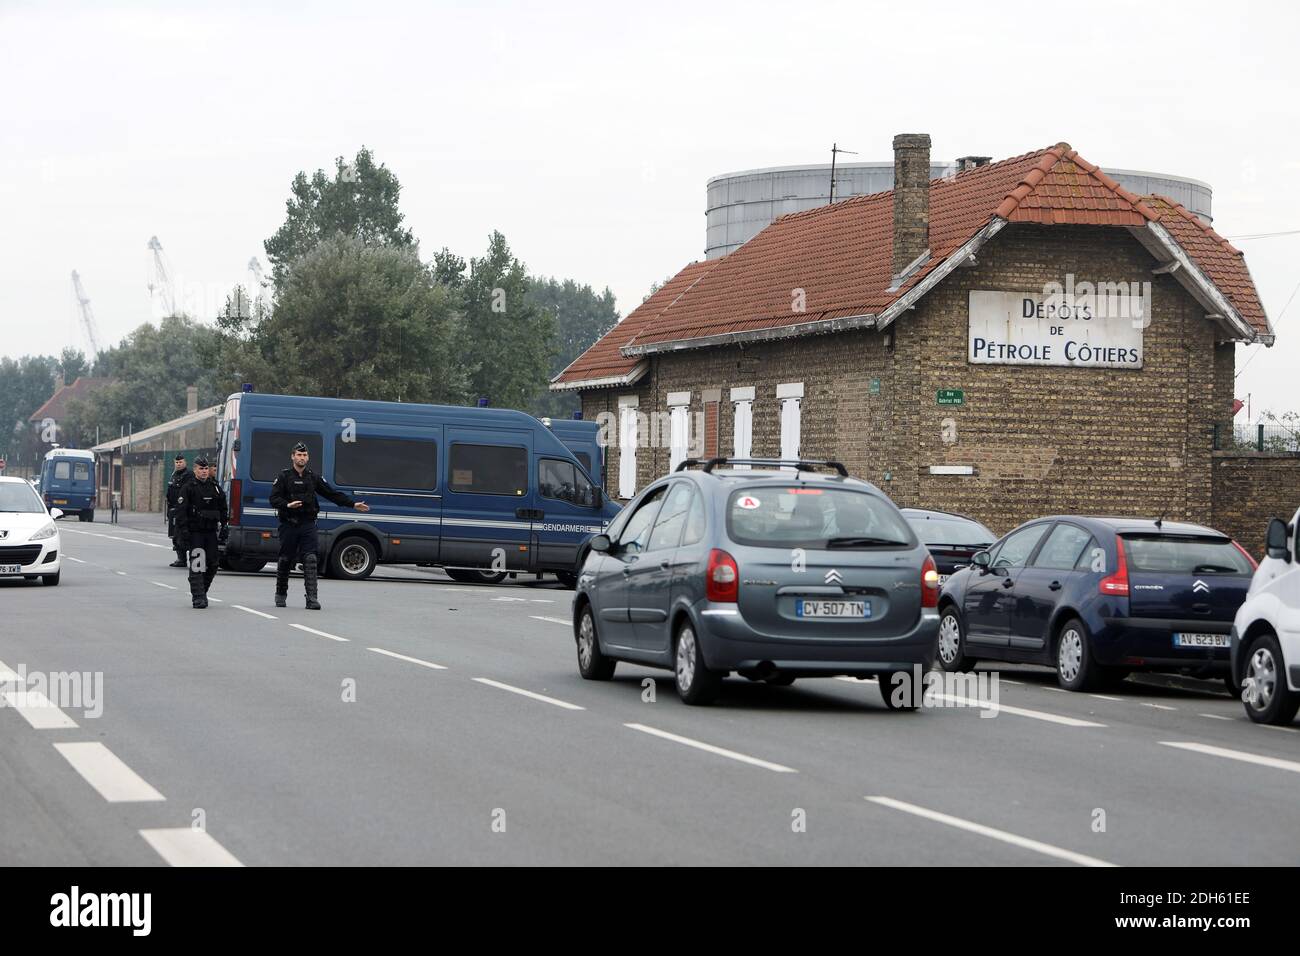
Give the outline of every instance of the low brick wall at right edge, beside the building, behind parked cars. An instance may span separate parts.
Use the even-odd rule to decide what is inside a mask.
[[[1213,453],[1214,514],[1210,524],[1258,561],[1270,518],[1291,520],[1300,507],[1300,455]]]

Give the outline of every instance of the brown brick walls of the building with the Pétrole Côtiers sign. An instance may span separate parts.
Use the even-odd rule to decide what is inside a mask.
[[[780,451],[776,386],[802,381],[803,457],[838,458],[900,505],[971,514],[1001,533],[1043,514],[1160,514],[1212,522],[1212,434],[1231,419],[1234,347],[1204,308],[1121,229],[1011,225],[883,332],[864,330],[653,355],[629,389],[582,395],[588,419],[636,394],[667,411],[668,392],[722,388],[719,433],[732,453],[727,389],[754,386],[753,451]],[[1141,369],[972,365],[966,360],[971,290],[1041,291],[1048,282],[1152,284]],[[963,406],[939,406],[962,389]],[[945,432],[956,441],[945,442]],[[642,438],[645,441],[645,438]],[[610,449],[611,493],[619,451]],[[976,476],[932,476],[972,464]],[[637,486],[668,468],[662,447],[637,454]]]

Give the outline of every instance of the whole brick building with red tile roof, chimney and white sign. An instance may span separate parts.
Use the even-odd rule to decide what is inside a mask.
[[[556,376],[614,423],[608,493],[688,454],[802,455],[998,532],[1213,523],[1235,345],[1273,342],[1242,254],[1065,143],[931,181],[905,134],[894,166],[686,265]]]

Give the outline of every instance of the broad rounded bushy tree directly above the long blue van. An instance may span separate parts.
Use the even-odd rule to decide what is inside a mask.
[[[296,259],[247,330],[274,388],[390,402],[464,402],[452,295],[413,247],[335,235]]]

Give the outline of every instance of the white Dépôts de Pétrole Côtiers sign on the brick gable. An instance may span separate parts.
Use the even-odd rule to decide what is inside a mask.
[[[1128,294],[970,294],[972,364],[1141,368],[1149,302]]]

